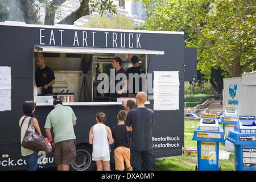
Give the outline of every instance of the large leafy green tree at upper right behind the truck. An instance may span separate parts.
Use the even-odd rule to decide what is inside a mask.
[[[185,30],[205,75],[218,67],[238,77],[256,62],[256,1],[142,0],[147,30]],[[189,29],[187,28],[189,27]]]

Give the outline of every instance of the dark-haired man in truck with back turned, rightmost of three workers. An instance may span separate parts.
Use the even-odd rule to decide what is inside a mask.
[[[133,85],[129,85],[129,97],[135,97],[138,92],[142,91],[142,78],[139,77],[139,82],[134,74],[138,73],[138,76],[141,76],[141,73],[145,73],[145,69],[139,65],[139,58],[138,56],[131,57],[131,63],[133,63],[133,67],[127,69],[127,74],[133,74]],[[139,85],[137,84],[139,83]],[[133,88],[131,88],[133,86]]]

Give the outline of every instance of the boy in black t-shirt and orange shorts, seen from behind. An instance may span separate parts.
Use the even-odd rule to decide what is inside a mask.
[[[130,164],[131,131],[126,130],[126,116],[127,112],[125,110],[119,111],[117,115],[118,124],[112,128],[112,137],[114,139],[115,169],[118,171],[123,171],[125,169],[123,160],[125,160],[127,171],[133,170]]]

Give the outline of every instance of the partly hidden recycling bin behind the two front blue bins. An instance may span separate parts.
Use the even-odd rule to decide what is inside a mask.
[[[236,123],[238,122],[238,119],[239,117],[236,111],[236,107],[226,106],[224,110],[224,115],[220,116],[220,122],[223,125],[225,138],[228,137],[229,130],[234,130],[234,125],[236,125]]]

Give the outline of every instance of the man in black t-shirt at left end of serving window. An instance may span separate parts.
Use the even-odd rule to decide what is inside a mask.
[[[44,63],[44,56],[38,55],[37,65],[38,68],[36,69],[35,81],[36,86],[44,88],[44,95],[51,95],[52,94],[52,85],[55,83],[55,76],[52,68],[48,67]]]

